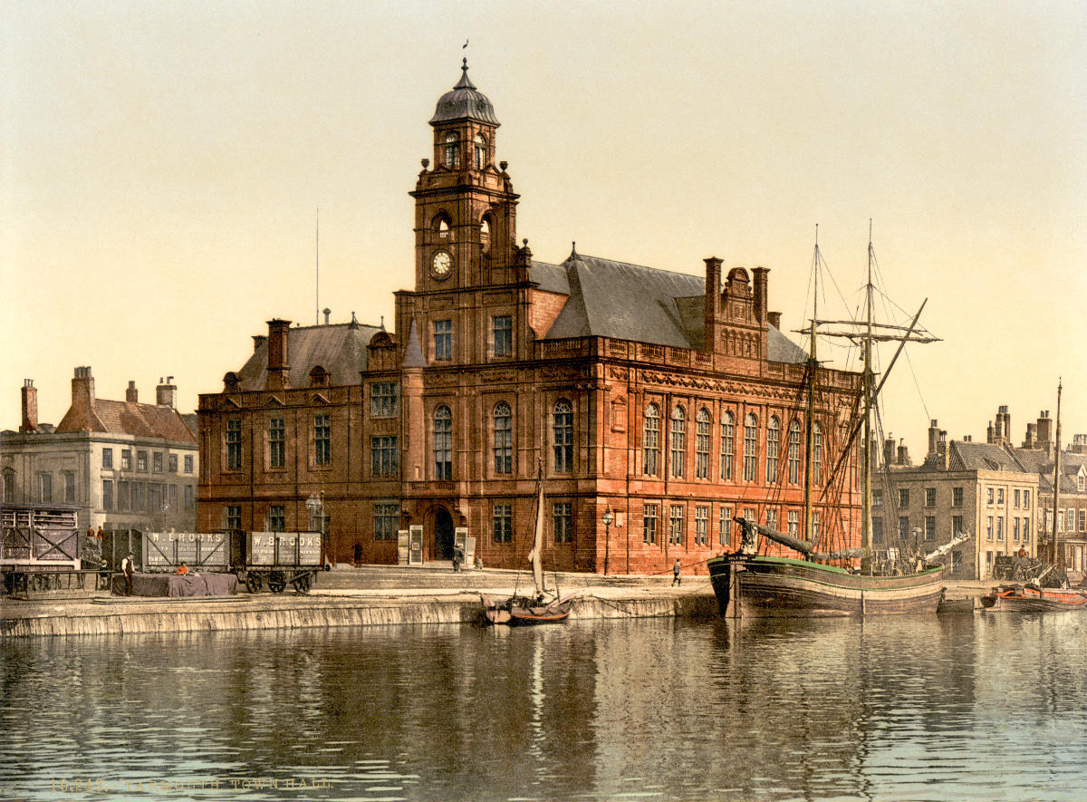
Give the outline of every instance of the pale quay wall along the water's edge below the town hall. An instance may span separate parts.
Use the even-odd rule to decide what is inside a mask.
[[[298,629],[307,627],[393,626],[404,624],[482,623],[478,596],[343,599],[255,597],[245,602],[108,601],[85,603],[72,611],[7,611],[0,639],[80,635]],[[97,609],[96,609],[97,607]],[[638,597],[584,594],[571,618],[715,617],[717,603],[709,594]]]

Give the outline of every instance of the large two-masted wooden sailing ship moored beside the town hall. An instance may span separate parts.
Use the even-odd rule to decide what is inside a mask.
[[[810,335],[808,360],[808,456],[804,480],[805,534],[807,539],[785,535],[776,529],[762,526],[742,517],[734,518],[742,527],[742,538],[738,551],[712,557],[708,561],[710,580],[723,616],[729,617],[777,617],[777,616],[838,616],[875,615],[889,613],[934,613],[942,593],[945,567],[932,561],[946,553],[966,536],[958,536],[949,543],[928,554],[914,555],[905,563],[901,554],[896,559],[873,561],[872,531],[872,414],[883,384],[886,381],[902,348],[910,342],[933,342],[932,337],[917,328],[917,319],[925,304],[913,316],[908,327],[877,324],[873,321],[872,267],[875,251],[869,237],[869,272],[865,286],[865,315],[861,322],[821,321],[817,305],[813,308],[811,326],[802,330]],[[821,258],[816,240],[813,271],[815,272],[815,296],[819,296],[819,265]],[[861,346],[863,374],[859,393],[861,414],[849,436],[845,439],[835,472],[847,462],[850,449],[861,435],[861,546],[834,552],[820,552],[817,534],[812,526],[812,419],[815,398],[815,378],[819,368],[816,360],[816,331],[820,325],[844,326],[844,329],[824,329],[824,336],[844,337]],[[872,366],[874,341],[897,340],[898,350],[888,364],[878,386]],[[829,488],[827,483],[824,496]],[[799,552],[800,557],[774,556],[760,553],[760,539],[766,538]],[[854,565],[859,559],[859,569]],[[838,565],[832,563],[839,563]]]

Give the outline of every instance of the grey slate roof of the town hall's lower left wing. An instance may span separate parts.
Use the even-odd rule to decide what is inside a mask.
[[[328,326],[296,326],[287,334],[288,380],[291,387],[309,387],[310,371],[321,365],[328,372],[328,384],[353,385],[366,369],[371,338],[382,329],[359,323]],[[237,372],[239,389],[263,390],[267,385],[268,342],[265,339]]]

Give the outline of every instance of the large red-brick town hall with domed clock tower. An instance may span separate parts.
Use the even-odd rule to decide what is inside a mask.
[[[770,271],[708,258],[686,275],[576,246],[535,261],[466,65],[429,124],[393,329],[267,323],[200,398],[201,530],[323,525],[332,559],[395,563],[398,531],[439,560],[460,529],[485,564],[520,566],[541,474],[548,568],[697,572],[735,546],[737,514],[803,531],[807,355],[770,311]],[[819,488],[859,375],[819,373],[813,524],[853,530],[855,453],[835,493]]]

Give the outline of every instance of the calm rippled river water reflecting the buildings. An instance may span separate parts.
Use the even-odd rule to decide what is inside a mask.
[[[0,799],[1083,800],[1085,636],[1072,612],[7,642]]]

